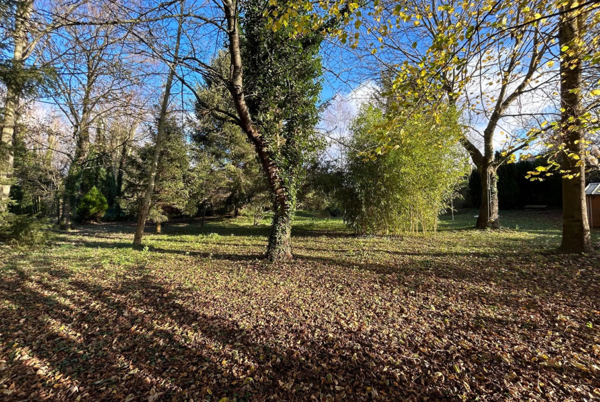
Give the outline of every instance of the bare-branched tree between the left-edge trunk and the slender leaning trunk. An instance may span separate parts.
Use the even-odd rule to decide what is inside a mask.
[[[88,5],[86,11],[88,18],[95,18],[105,9]],[[46,63],[58,71],[52,98],[72,126],[75,143],[63,186],[61,225],[65,230],[71,227],[72,204],[80,195],[82,174],[91,168],[92,129],[97,128],[101,143],[103,122],[127,114],[136,100],[134,56],[124,49],[127,35],[118,25],[65,25],[52,33],[44,52]]]

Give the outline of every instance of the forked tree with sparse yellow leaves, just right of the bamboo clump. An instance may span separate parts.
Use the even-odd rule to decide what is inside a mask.
[[[528,126],[552,116],[538,98],[551,100],[548,93],[556,89],[557,78],[554,69],[544,66],[550,44],[541,32],[547,22],[534,29],[523,25],[505,36],[507,22],[480,7],[458,1],[417,0],[404,8],[394,3],[383,14],[397,18],[397,31],[381,32],[383,27],[376,26],[382,46],[400,58],[389,84],[401,111],[394,121],[440,102],[463,111],[467,130],[461,144],[482,183],[476,226],[499,228],[497,169],[529,147],[535,137],[527,136]],[[518,12],[511,17],[515,25],[526,20]]]

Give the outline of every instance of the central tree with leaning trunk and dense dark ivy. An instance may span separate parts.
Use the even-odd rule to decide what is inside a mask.
[[[318,52],[323,35],[313,31],[293,35],[292,25],[277,31],[266,29],[266,2],[243,2],[242,7],[243,13],[239,13],[238,4],[223,1],[229,74],[200,64],[207,77],[227,89],[233,111],[206,104],[194,92],[202,108],[216,119],[238,125],[254,147],[274,199],[267,258],[290,259],[302,164],[318,145],[313,128],[318,119]],[[290,15],[290,23],[301,19],[299,13]]]

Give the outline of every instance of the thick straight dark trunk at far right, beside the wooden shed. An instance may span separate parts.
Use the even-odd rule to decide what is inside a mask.
[[[565,7],[571,8],[574,1]],[[584,114],[581,102],[581,37],[584,15],[571,13],[560,17],[560,104],[561,137],[565,143],[565,155],[562,156],[561,169],[563,196],[563,232],[560,250],[562,252],[590,252],[593,250],[590,238],[590,226],[587,220],[586,205],[586,166],[584,148]],[[562,50],[565,49],[565,50]],[[572,158],[569,154],[577,155]]]

